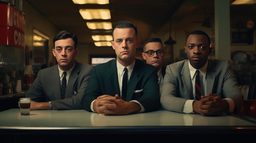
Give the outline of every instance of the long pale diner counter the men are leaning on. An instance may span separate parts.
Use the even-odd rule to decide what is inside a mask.
[[[199,114],[180,114],[166,110],[124,116],[104,116],[85,110],[31,110],[29,116],[20,115],[20,109],[0,112],[0,135],[147,134],[147,139],[150,139],[155,135],[175,138],[182,134],[186,134],[187,137],[194,136],[196,133],[204,134],[205,137],[214,133],[222,134],[222,137],[231,134],[248,136],[256,134],[256,121],[228,114],[204,117]]]

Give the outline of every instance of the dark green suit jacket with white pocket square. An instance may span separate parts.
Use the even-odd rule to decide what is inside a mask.
[[[137,100],[145,108],[145,112],[156,110],[159,107],[159,85],[157,68],[135,59],[135,66],[128,82],[126,101]],[[101,95],[118,94],[120,96],[117,77],[117,59],[94,66],[82,106],[91,112],[90,105]]]

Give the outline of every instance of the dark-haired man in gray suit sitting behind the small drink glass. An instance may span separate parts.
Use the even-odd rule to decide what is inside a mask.
[[[57,65],[44,68],[26,93],[31,98],[31,110],[83,109],[81,100],[90,81],[92,66],[75,60],[77,37],[69,31],[59,32],[53,39],[52,53]],[[65,73],[66,90],[62,90]],[[19,105],[20,106],[20,105]]]

